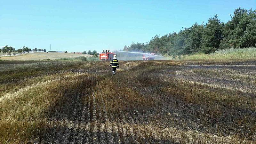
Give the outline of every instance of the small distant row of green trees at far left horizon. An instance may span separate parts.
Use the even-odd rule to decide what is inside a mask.
[[[37,48],[35,48],[35,49],[33,49],[33,51],[34,52],[46,52],[46,49],[37,49]],[[31,52],[31,48],[25,47],[25,45],[24,45],[22,48],[16,50],[15,48],[13,48],[11,46],[6,45],[2,49],[0,48],[0,52],[3,52],[4,55],[5,54],[6,55],[7,54],[9,54],[9,55],[14,54],[15,55],[16,52],[17,53],[28,53],[28,52]]]

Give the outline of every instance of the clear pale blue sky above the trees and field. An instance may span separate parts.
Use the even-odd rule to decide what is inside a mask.
[[[0,46],[49,51],[120,50],[153,36],[180,31],[214,14],[230,20],[256,0],[23,1],[0,0]]]

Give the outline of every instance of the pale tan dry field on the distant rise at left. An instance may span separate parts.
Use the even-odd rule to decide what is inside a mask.
[[[58,52],[34,52],[19,56],[0,57],[0,60],[56,60],[60,58],[74,58],[79,56],[91,57],[92,55]]]

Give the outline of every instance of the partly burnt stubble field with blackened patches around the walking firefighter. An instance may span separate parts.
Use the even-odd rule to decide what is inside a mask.
[[[0,143],[255,143],[256,60],[0,61]]]

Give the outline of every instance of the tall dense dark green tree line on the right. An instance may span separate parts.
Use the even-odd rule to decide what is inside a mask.
[[[215,52],[219,49],[256,47],[256,10],[235,9],[231,20],[221,22],[218,15],[206,24],[195,23],[180,32],[156,35],[146,44],[125,45],[123,51],[154,52],[163,55],[181,55]]]

